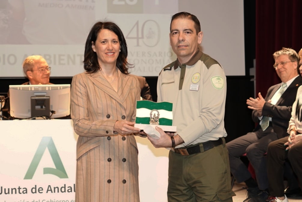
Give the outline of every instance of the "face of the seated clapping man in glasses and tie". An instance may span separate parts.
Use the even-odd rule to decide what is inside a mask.
[[[290,62],[289,56],[287,54],[283,54],[281,56],[278,56],[275,59],[275,65],[278,64],[276,68],[276,72],[278,76],[280,77],[282,82],[287,82],[290,79],[294,78],[298,75],[297,68],[298,64],[297,62]],[[282,62],[288,62],[281,64]]]

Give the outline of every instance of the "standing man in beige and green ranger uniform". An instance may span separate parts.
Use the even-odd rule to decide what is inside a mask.
[[[177,60],[159,74],[158,102],[173,103],[176,133],[160,127],[156,147],[170,147],[168,201],[230,202],[230,166],[224,137],[226,76],[220,64],[202,53],[203,33],[196,16],[172,16],[170,45]]]

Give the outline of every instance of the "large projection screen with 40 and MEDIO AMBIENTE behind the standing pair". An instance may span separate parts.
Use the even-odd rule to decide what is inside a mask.
[[[124,33],[131,73],[158,76],[176,59],[169,42],[171,16],[195,14],[204,37],[201,50],[226,75],[245,75],[243,0],[2,0],[0,77],[24,76],[22,62],[42,55],[51,76],[83,72],[86,37],[96,21],[114,21]]]

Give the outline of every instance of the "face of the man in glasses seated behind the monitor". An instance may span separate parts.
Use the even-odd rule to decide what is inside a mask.
[[[39,59],[34,62],[32,71],[27,71],[27,77],[32,85],[48,84],[50,71],[46,70],[49,67],[45,59]]]

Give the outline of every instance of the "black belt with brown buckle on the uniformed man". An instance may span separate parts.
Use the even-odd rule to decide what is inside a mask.
[[[184,155],[184,156],[188,156],[188,155],[191,155],[191,154],[205,152],[209,149],[212,149],[215,146],[222,145],[222,144],[223,144],[223,139],[219,138],[217,140],[209,140],[207,142],[200,143],[200,144],[192,146],[192,147],[171,148],[171,150],[175,153],[178,153],[178,154],[181,154],[181,155]],[[202,146],[203,150],[200,149],[201,146]]]

